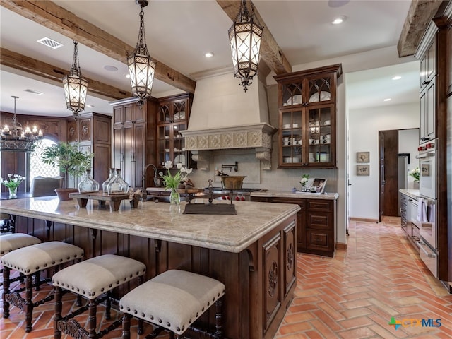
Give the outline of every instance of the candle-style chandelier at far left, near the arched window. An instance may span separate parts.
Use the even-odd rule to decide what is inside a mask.
[[[42,131],[38,131],[36,126],[33,126],[32,129],[26,126],[23,129],[16,117],[18,97],[12,97],[14,98],[13,121],[11,125],[5,124],[0,131],[0,150],[2,152],[34,152],[35,147],[41,143]]]

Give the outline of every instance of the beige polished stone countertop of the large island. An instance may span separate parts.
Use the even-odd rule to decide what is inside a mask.
[[[234,201],[237,215],[196,215],[183,214],[185,204],[181,203],[177,213],[170,211],[169,203],[140,201],[138,208],[131,208],[129,200],[125,200],[114,212],[108,203],[99,206],[97,201],[89,200],[87,207],[81,208],[75,199],[59,201],[56,197],[40,197],[2,200],[0,211],[239,253],[299,210],[295,204]]]

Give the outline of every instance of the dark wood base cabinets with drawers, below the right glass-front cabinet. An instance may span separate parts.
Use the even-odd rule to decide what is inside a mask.
[[[251,201],[297,204],[301,208],[297,213],[297,251],[334,256],[335,200],[251,196]]]

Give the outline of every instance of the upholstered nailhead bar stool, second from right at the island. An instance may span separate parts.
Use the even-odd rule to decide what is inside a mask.
[[[138,278],[138,283],[141,283],[145,272],[146,266],[140,261],[114,254],[104,254],[76,263],[54,274],[52,277],[55,286],[54,338],[61,338],[61,333],[73,338],[101,338],[117,328],[121,325],[120,320],[96,332],[97,304],[105,302],[105,319],[110,319],[111,290],[134,278]],[[61,316],[63,307],[61,297],[64,290],[85,297],[89,300],[88,304],[71,314]],[[88,330],[73,319],[74,316],[87,310],[89,312]]]

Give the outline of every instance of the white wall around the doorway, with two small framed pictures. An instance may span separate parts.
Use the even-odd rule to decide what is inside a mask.
[[[350,110],[350,218],[379,219],[379,131],[413,129],[419,121],[417,103]],[[356,153],[364,151],[370,152],[370,175],[357,176]]]

